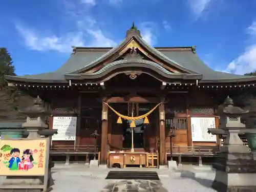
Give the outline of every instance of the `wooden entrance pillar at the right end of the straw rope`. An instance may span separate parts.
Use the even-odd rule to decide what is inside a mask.
[[[159,114],[160,112],[164,112],[164,103],[159,105]],[[160,117],[160,115],[159,115]],[[161,117],[160,117],[161,118]],[[159,140],[160,140],[160,152],[159,152],[159,160],[160,165],[166,165],[165,162],[165,154],[166,154],[166,147],[165,147],[165,122],[164,120],[159,119]]]

